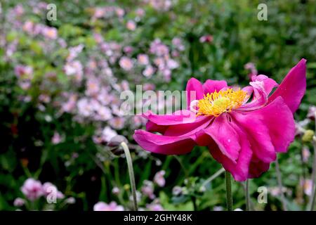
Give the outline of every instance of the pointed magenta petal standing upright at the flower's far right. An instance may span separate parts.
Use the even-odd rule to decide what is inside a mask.
[[[303,58],[299,63],[291,68],[290,72],[283,79],[282,83],[275,92],[270,96],[268,102],[272,102],[278,96],[284,99],[294,113],[301,103],[306,90],[306,60]]]

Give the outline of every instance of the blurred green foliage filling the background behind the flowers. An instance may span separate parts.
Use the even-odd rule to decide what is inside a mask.
[[[48,21],[45,6],[52,2],[57,6],[57,20]],[[51,181],[65,194],[65,199],[53,206],[55,210],[92,210],[98,201],[115,201],[124,205],[126,210],[131,207],[125,158],[110,155],[105,143],[93,139],[97,130],[107,126],[108,122],[80,120],[73,112],[60,113],[61,104],[54,101],[66,101],[69,96],[63,100],[60,98],[70,90],[78,96],[84,95],[84,83],[74,84],[74,80],[65,75],[65,65],[70,47],[79,44],[84,49],[77,58],[84,68],[91,58],[102,61],[106,53],[102,52],[96,34],[100,34],[105,43],[114,41],[121,46],[117,58],[128,56],[136,59],[139,53],[150,55],[152,41],[159,39],[175,53],[173,58],[178,63],[168,78],[159,73],[159,69],[151,77],[146,77],[142,75],[143,68],[122,70],[119,60],[114,59],[110,63],[112,76],[104,75],[108,76],[105,83],[116,93],[113,95],[118,96],[121,89],[115,89],[115,84],[121,86],[122,81],[129,84],[131,90],[135,90],[136,84],[145,83],[154,84],[155,90],[183,90],[190,77],[201,81],[225,79],[228,84],[246,85],[249,70],[244,65],[249,62],[254,63],[258,74],[281,82],[291,67],[301,58],[306,58],[308,88],[295,115],[296,120],[304,121],[310,105],[316,105],[315,1],[265,1],[267,21],[257,18],[257,6],[262,1],[161,2],[164,4],[159,8],[149,0],[133,3],[126,0],[1,1],[0,210],[17,208],[13,201],[23,198],[20,187],[28,177],[41,182]],[[41,4],[44,8],[40,7]],[[107,17],[105,13],[96,16],[98,8],[112,6],[123,9],[124,15]],[[21,14],[17,7],[22,7]],[[35,10],[37,8],[39,10]],[[27,33],[24,27],[27,21],[55,27],[58,39],[49,35],[43,39]],[[126,29],[129,21],[136,23],[136,27],[132,25]],[[175,37],[183,44],[180,51],[176,51]],[[124,46],[131,46],[133,50],[124,51]],[[110,62],[111,58],[107,60]],[[31,87],[23,89],[18,84],[17,65],[32,68]],[[51,73],[54,76],[49,77]],[[46,94],[51,100],[40,103],[41,94]],[[132,123],[126,121],[124,127],[112,129],[130,141],[138,190],[141,192],[144,181],[152,181],[157,172],[166,172],[166,185],[155,186],[154,199],[143,195],[140,207],[149,208],[148,204],[155,201],[165,210],[225,208],[223,175],[201,188],[201,184],[220,169],[206,148],[195,148],[192,153],[178,157],[144,155],[133,141],[135,127]],[[314,127],[313,122],[305,125],[310,129]],[[57,144],[52,142],[55,132],[62,136],[62,141]],[[304,210],[308,203],[302,180],[311,178],[312,157],[303,161],[303,148],[312,152],[312,145],[303,143],[298,136],[289,152],[279,155],[290,210]],[[175,186],[182,187],[180,194],[174,193]],[[257,203],[259,186],[266,186],[270,191],[267,204]],[[113,193],[114,187],[119,188],[119,194]],[[256,210],[282,209],[280,195],[273,193],[276,190],[273,188],[277,188],[274,165],[269,172],[250,181],[251,200]],[[234,182],[233,196],[234,207],[244,209],[243,184]],[[74,204],[66,203],[70,197],[75,199]],[[46,206],[44,200],[38,200],[36,204],[33,209],[51,207]]]

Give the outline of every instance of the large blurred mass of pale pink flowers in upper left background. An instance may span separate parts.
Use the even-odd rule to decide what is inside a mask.
[[[150,4],[158,11],[168,11],[172,5],[171,1],[145,1],[145,4]],[[43,3],[31,4],[28,7],[32,7],[34,13],[41,15],[46,6],[47,4]],[[138,129],[145,124],[142,117],[123,117],[120,112],[119,94],[137,83],[143,84],[144,91],[153,90],[155,85],[150,82],[151,77],[161,82],[169,82],[173,70],[179,67],[176,59],[180,57],[180,52],[185,50],[182,39],[175,37],[169,45],[160,39],[154,39],[138,46],[129,43],[129,39],[120,43],[105,40],[103,33],[96,30],[91,35],[96,42],[94,48],[91,49],[85,44],[69,46],[62,38],[62,32],[59,36],[55,27],[24,20],[26,15],[23,7],[25,6],[18,5],[14,8],[11,20],[8,20],[12,23],[10,29],[24,32],[38,44],[37,48],[41,48],[37,50],[44,51],[46,55],[65,52],[65,49],[68,53],[67,56],[59,56],[58,60],[54,60],[54,68],[41,74],[41,79],[37,76],[42,73],[38,71],[37,65],[31,66],[21,62],[15,66],[18,84],[25,91],[25,95],[20,96],[21,101],[37,101],[39,110],[44,113],[47,107],[58,108],[57,115],[44,117],[47,122],[64,113],[74,115],[77,122],[97,122],[96,134],[93,137],[96,143],[110,141],[118,131],[126,127]],[[145,11],[143,8],[136,8],[134,18],[127,19],[125,15],[124,8],[117,6],[91,8],[91,25],[94,25],[96,20],[105,20],[105,23],[118,20],[118,23],[126,27],[126,33],[133,35],[138,23],[145,17]],[[19,43],[11,41],[4,44],[8,57],[6,60],[12,60],[13,54],[19,51]],[[33,87],[32,84],[36,86]],[[39,95],[35,96],[37,99],[31,94],[34,93],[33,88],[40,91]],[[65,136],[55,131],[52,143],[60,143],[64,138]]]

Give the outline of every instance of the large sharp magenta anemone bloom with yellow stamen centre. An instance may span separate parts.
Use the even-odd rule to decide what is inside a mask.
[[[223,80],[201,84],[191,78],[187,109],[171,115],[145,113],[146,131],[136,130],[133,137],[145,150],[165,155],[207,146],[236,181],[258,177],[294,141],[294,112],[306,89],[305,63],[302,59],[281,84],[254,75],[249,86],[232,89]]]

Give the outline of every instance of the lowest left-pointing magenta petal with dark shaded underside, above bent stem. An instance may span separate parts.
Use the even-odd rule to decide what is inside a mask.
[[[163,136],[143,130],[136,130],[133,138],[145,150],[164,155],[186,154],[195,146],[188,136]]]

